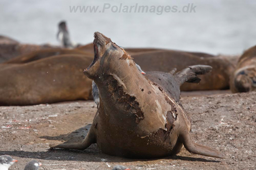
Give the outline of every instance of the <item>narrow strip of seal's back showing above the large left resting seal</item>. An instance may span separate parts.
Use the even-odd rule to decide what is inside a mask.
[[[84,55],[85,57],[91,57],[93,59],[93,55],[86,53],[84,51],[80,50],[74,50],[74,49],[43,49],[43,50],[37,50],[33,51],[31,53],[27,53],[24,55],[20,55],[18,57],[15,57],[13,59],[10,59],[9,61],[4,62],[5,64],[21,64],[21,63],[29,63],[31,61],[36,61],[39,59],[44,59],[47,57],[52,57],[55,55],[64,55],[64,54],[78,54],[78,55]]]

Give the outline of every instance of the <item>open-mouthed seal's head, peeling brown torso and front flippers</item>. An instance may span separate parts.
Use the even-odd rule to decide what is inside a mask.
[[[194,154],[224,158],[193,142],[186,111],[141,74],[124,49],[101,33],[94,37],[94,60],[84,74],[98,86],[99,109],[82,142],[53,144],[51,148],[84,150],[97,143],[106,154],[157,158],[176,154],[184,145]]]

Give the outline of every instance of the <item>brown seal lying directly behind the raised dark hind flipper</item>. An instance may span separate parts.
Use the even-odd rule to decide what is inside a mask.
[[[173,50],[136,53],[132,58],[146,72],[170,72],[173,68],[180,71],[197,64],[212,66],[212,72],[207,76],[199,76],[202,79],[200,85],[184,83],[180,87],[182,91],[228,89],[230,75],[235,69],[234,64],[224,57],[198,57],[192,53]]]

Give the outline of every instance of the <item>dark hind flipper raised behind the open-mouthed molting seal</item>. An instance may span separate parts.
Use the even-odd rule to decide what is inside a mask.
[[[182,84],[184,84],[184,82],[199,83],[201,79],[198,78],[197,75],[206,74],[211,71],[212,71],[211,66],[194,65],[194,66],[189,66],[188,68],[185,68],[180,72],[177,72],[175,74],[175,77],[180,82],[180,86],[181,86]]]

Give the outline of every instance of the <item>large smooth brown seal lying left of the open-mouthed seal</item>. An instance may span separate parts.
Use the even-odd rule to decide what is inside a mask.
[[[34,105],[92,99],[92,80],[84,66],[92,58],[58,55],[0,69],[0,106]]]

